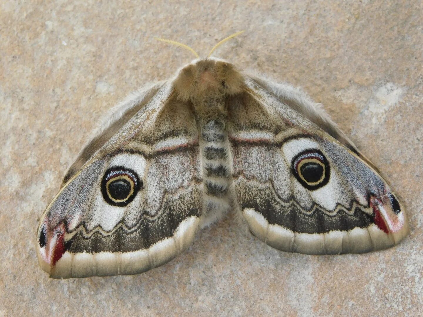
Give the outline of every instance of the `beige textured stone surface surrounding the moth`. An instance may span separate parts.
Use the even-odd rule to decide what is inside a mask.
[[[120,1],[119,1],[120,2]],[[23,3],[23,2],[19,2]],[[30,3],[30,4],[28,4]],[[423,313],[421,1],[0,2],[0,316]],[[403,243],[363,255],[276,251],[231,217],[137,276],[52,280],[38,219],[98,118],[192,58],[172,38],[305,88],[404,202]]]

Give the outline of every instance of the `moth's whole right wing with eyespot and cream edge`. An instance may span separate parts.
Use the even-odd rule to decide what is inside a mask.
[[[247,77],[228,102],[240,218],[276,249],[304,254],[385,249],[408,232],[385,180],[299,90]]]

